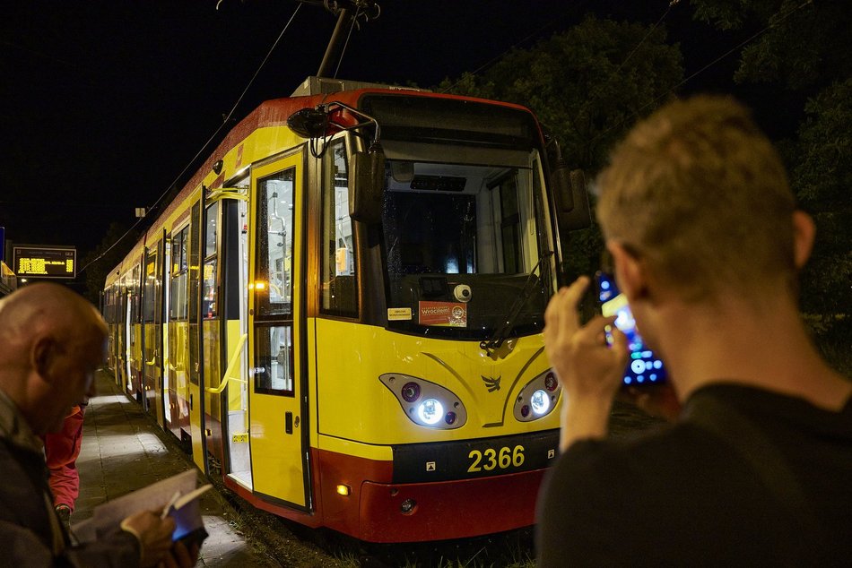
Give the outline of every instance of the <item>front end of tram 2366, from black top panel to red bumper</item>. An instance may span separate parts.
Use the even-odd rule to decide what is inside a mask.
[[[352,115],[362,124],[327,143],[320,174],[311,452],[325,524],[374,542],[530,525],[561,403],[541,335],[561,204],[535,117],[374,91]],[[370,157],[364,131],[379,128]]]

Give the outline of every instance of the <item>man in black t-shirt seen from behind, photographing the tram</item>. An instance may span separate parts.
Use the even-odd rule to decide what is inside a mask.
[[[547,306],[561,455],[538,501],[538,564],[827,566],[852,558],[852,382],[798,313],[813,220],[733,99],[674,101],[598,179],[597,216],[639,332],[682,405],[607,439],[624,336],[586,325],[586,277]]]

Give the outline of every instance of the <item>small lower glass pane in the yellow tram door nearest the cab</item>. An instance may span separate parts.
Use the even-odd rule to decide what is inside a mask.
[[[257,330],[255,392],[293,395],[293,330],[274,325]]]

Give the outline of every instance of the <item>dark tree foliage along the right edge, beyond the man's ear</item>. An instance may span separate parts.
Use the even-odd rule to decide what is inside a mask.
[[[719,29],[765,30],[743,48],[738,82],[765,82],[800,96],[804,120],[783,147],[793,190],[817,224],[802,275],[802,309],[823,352],[852,374],[852,10],[847,0],[691,5],[696,18]]]

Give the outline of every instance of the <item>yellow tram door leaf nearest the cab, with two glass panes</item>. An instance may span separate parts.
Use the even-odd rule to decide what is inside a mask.
[[[252,171],[249,436],[253,491],[308,508],[302,152]]]

